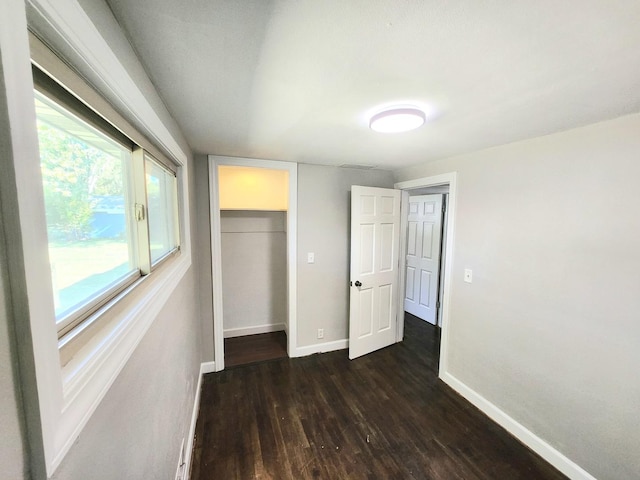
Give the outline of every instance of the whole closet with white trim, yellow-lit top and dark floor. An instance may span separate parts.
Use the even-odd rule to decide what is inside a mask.
[[[291,355],[297,168],[209,160],[215,369]]]

